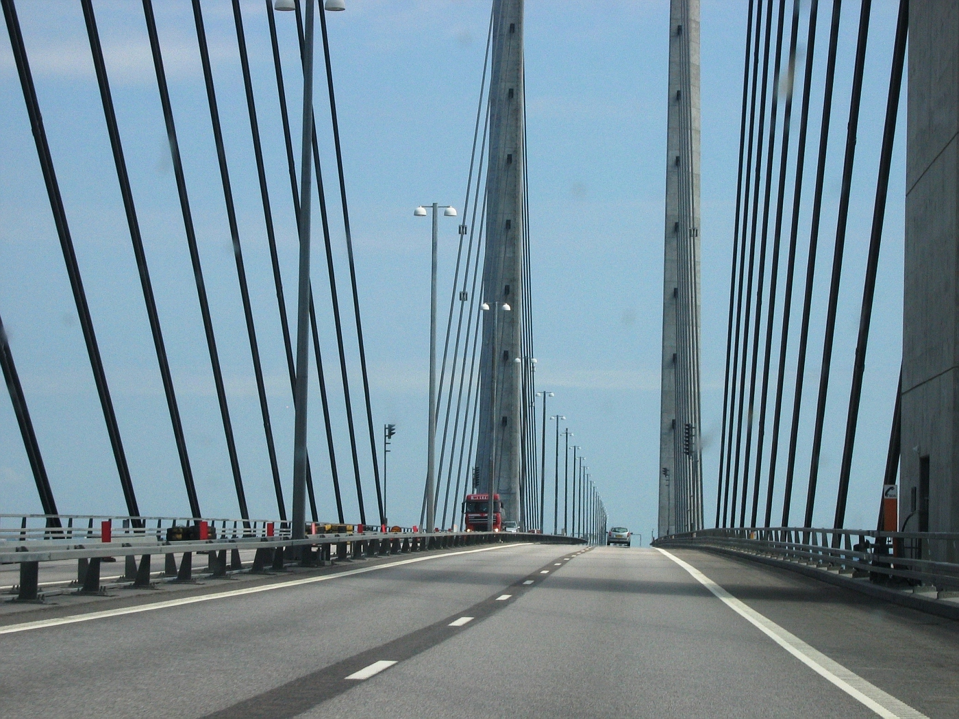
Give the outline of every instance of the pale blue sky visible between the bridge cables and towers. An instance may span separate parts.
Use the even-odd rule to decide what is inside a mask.
[[[292,403],[236,35],[228,3],[204,5],[246,271],[289,501]],[[806,5],[801,26],[804,37]],[[829,5],[823,3],[820,8],[816,66],[820,79]],[[275,504],[269,464],[192,13],[186,0],[155,6],[247,498],[252,515],[272,517]],[[412,523],[418,519],[426,457],[430,250],[429,222],[414,219],[412,208],[432,201],[462,204],[489,4],[350,0],[348,6],[347,12],[328,20],[374,421],[378,432],[386,422],[398,426],[388,460],[389,515],[395,522]],[[883,0],[874,4],[873,10],[817,522],[831,519],[842,451],[897,6]],[[200,505],[205,515],[233,517],[236,499],[142,11],[139,3],[104,0],[95,2],[95,7]],[[183,514],[187,504],[182,478],[80,4],[21,0],[17,8],[141,511]],[[272,208],[292,308],[295,227],[266,11],[264,3],[255,0],[244,2],[243,8]],[[744,2],[733,0],[704,0],[702,4],[702,375],[708,522],[718,464],[745,10]],[[277,22],[292,116],[296,117],[299,82],[292,17],[281,15]],[[814,413],[811,398],[819,375],[828,291],[824,278],[831,262],[856,23],[857,8],[847,4],[830,134],[796,498],[806,494],[807,445]],[[655,526],[659,452],[667,24],[665,1],[557,4],[530,0],[526,4],[527,163],[538,383],[555,392],[550,414],[559,411],[567,416],[566,424],[575,433],[575,443],[584,448],[611,521],[642,530],[646,539]],[[810,148],[818,142],[821,81],[816,88]],[[323,105],[318,106],[323,116]],[[796,123],[793,128],[795,133]],[[320,122],[319,134],[339,291],[344,296],[348,294],[348,275],[328,121]],[[903,142],[904,105],[854,457],[847,515],[850,526],[875,522],[901,358]],[[811,156],[807,157],[807,168],[812,162]],[[0,174],[0,313],[11,337],[60,511],[123,513],[119,481],[5,32],[0,33]],[[807,169],[810,182],[812,175]],[[810,196],[808,185],[807,199]],[[808,204],[804,203],[801,221],[797,284],[803,280],[806,265],[803,245]],[[456,221],[441,222],[440,227],[440,276],[447,278],[448,286],[455,260]],[[317,296],[325,298],[325,267],[320,245],[315,246],[314,285]],[[321,301],[324,308],[327,304]],[[345,309],[347,313],[351,310],[348,302]],[[341,406],[336,392],[339,382],[332,320],[325,310],[321,314],[331,398]],[[346,322],[348,340],[352,337],[350,325]],[[794,328],[792,336],[797,335]],[[355,340],[348,344],[355,347]],[[794,346],[790,366],[794,365]],[[362,385],[353,350],[349,361],[357,404]],[[786,385],[787,396],[793,375]],[[315,385],[311,392],[311,452],[315,466],[325,466]],[[341,410],[335,428],[347,514],[355,517]],[[363,438],[362,423],[358,430]],[[550,476],[551,453],[550,441]],[[375,500],[368,453],[361,456],[370,507]],[[320,474],[320,514],[333,518],[329,481],[325,470]],[[0,497],[0,511],[39,511],[6,399],[0,400]]]

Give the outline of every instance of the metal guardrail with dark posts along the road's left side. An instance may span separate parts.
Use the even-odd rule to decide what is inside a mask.
[[[11,526],[14,519],[20,526]],[[86,526],[82,526],[83,523]],[[199,537],[171,541],[169,532],[173,527],[189,527],[190,534]],[[241,549],[255,550],[250,571],[266,573],[269,569],[282,569],[291,562],[321,567],[336,561],[453,546],[582,542],[573,537],[533,533],[418,532],[399,526],[383,531],[384,528],[380,526],[369,532],[363,525],[310,522],[307,536],[293,540],[290,522],[269,520],[0,515],[0,564],[20,565],[20,583],[13,601],[34,602],[42,601],[40,563],[57,560],[77,561],[77,585],[80,587],[77,593],[101,594],[100,564],[107,558],[116,557],[126,558],[124,579],[132,582],[134,587],[146,588],[152,585],[153,554],[164,555],[165,576],[175,577],[174,582],[189,583],[193,582],[194,553],[207,554],[213,577],[224,577],[228,570],[227,551],[230,553],[229,569],[245,569]],[[178,567],[175,554],[181,555]],[[137,556],[140,556],[139,564],[136,563]]]

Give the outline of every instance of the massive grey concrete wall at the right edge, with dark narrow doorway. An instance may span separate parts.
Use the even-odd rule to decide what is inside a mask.
[[[959,531],[959,3],[909,8],[900,526]]]

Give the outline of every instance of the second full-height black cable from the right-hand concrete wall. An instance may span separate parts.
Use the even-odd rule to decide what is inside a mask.
[[[849,124],[846,132],[846,156],[843,161],[842,189],[839,195],[839,218],[836,222],[836,240],[832,254],[830,299],[826,311],[826,336],[823,340],[823,363],[819,374],[819,397],[816,403],[816,424],[812,434],[812,457],[809,461],[809,485],[806,498],[806,522],[812,526],[812,512],[816,503],[816,481],[819,477],[819,456],[823,445],[823,424],[826,419],[826,399],[830,386],[832,340],[835,336],[836,307],[839,303],[839,282],[842,277],[843,250],[846,245],[846,223],[849,220],[849,197],[853,185],[855,135],[859,127],[859,104],[862,99],[862,76],[866,65],[866,43],[869,39],[869,15],[872,0],[862,0],[859,11],[859,35],[855,47],[853,70],[853,97],[850,102]],[[852,448],[850,448],[852,450]]]

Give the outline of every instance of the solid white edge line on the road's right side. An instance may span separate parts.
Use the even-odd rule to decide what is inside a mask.
[[[892,694],[887,694],[876,684],[867,682],[839,662],[830,660],[825,654],[785,630],[772,619],[760,615],[755,609],[713,582],[712,579],[699,571],[699,569],[684,562],[672,553],[667,552],[666,549],[661,549],[658,546],[656,548],[677,565],[686,569],[693,579],[709,591],[712,591],[714,596],[721,599],[726,606],[736,612],[737,615],[743,617],[759,629],[760,632],[783,647],[793,657],[802,661],[824,679],[838,686],[862,705],[875,711],[879,716],[885,719],[928,719],[923,712],[901,702]]]

